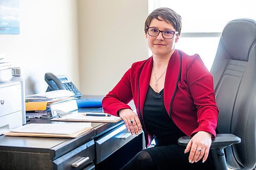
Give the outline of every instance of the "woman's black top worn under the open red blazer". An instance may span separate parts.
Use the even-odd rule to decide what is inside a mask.
[[[148,86],[143,119],[148,133],[155,135],[156,145],[177,144],[181,136],[186,136],[165,110],[163,89],[157,93]]]

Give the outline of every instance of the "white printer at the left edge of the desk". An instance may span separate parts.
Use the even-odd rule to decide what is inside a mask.
[[[0,135],[22,126],[22,92],[16,81],[0,80]]]

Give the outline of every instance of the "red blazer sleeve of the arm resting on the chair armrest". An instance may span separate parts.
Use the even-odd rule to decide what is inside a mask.
[[[197,56],[187,69],[187,84],[197,108],[199,127],[191,135],[206,131],[216,136],[219,110],[215,101],[214,83],[210,72]]]

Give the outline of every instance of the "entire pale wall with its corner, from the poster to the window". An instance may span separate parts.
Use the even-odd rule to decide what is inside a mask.
[[[20,34],[0,34],[0,54],[22,67],[26,95],[46,90],[45,72],[67,75],[83,94],[106,94],[148,57],[147,0],[20,0],[19,9]]]

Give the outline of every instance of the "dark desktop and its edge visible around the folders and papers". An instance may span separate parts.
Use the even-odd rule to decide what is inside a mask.
[[[102,108],[81,108],[79,111],[102,112]],[[69,124],[71,122],[52,122],[50,118],[33,118],[29,123],[37,124]],[[0,150],[29,152],[30,150],[40,153],[49,153],[51,159],[55,159],[79,147],[86,141],[95,139],[102,134],[111,132],[112,129],[123,124],[120,120],[117,123],[92,123],[92,130],[77,138],[58,137],[22,137],[22,136],[0,136]]]

